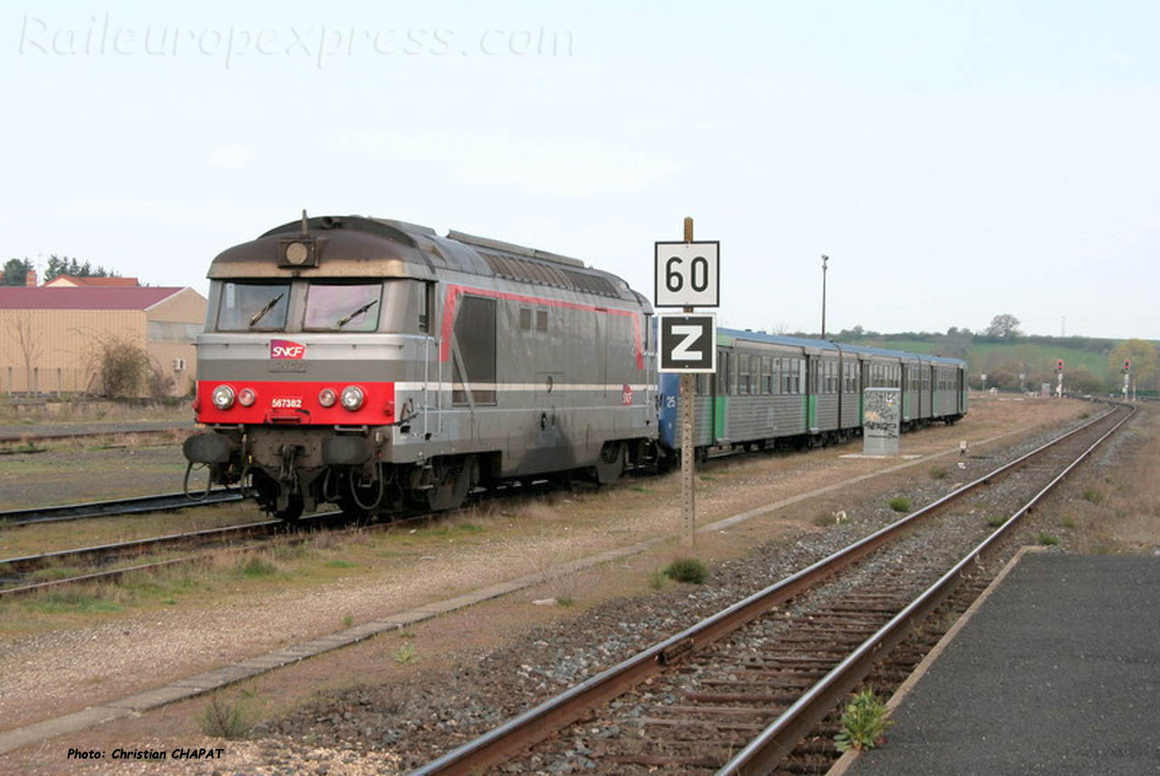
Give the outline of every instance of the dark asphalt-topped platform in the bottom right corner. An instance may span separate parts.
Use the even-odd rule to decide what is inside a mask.
[[[1160,558],[1024,554],[892,719],[847,775],[1160,774]]]

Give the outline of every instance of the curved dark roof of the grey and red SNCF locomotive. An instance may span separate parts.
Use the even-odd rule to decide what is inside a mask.
[[[302,237],[317,246],[317,267],[280,266],[280,246]],[[448,232],[386,218],[322,216],[276,226],[223,251],[210,264],[212,280],[259,277],[415,277],[436,280],[451,270],[570,289],[646,305],[623,280],[579,259],[512,242]]]

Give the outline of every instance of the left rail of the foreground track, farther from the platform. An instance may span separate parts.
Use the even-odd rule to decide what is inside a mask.
[[[448,752],[432,762],[409,771],[409,776],[433,776],[434,774],[473,774],[502,762],[543,740],[549,734],[579,719],[588,709],[610,701],[625,690],[674,665],[694,650],[708,645],[741,625],[789,601],[793,596],[814,587],[826,578],[860,560],[898,534],[912,528],[919,520],[938,508],[962,498],[981,485],[1021,466],[1031,458],[1049,450],[1054,444],[1079,434],[1100,422],[1116,409],[1092,419],[1087,423],[1061,434],[1057,438],[1031,450],[978,479],[963,485],[943,498],[882,528],[869,536],[818,560],[774,585],[759,590],[733,605],[691,625],[680,633],[637,653],[623,662],[588,679],[560,695],[519,715],[484,735]],[[1121,421],[1123,422],[1123,421]],[[1117,426],[1118,428],[1118,426]],[[1110,431],[1109,431],[1110,433]]]

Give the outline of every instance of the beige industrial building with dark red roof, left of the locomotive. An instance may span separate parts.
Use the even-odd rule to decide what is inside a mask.
[[[165,392],[184,396],[204,322],[205,297],[190,288],[0,287],[0,393],[93,391],[102,346],[113,342],[144,348]]]

